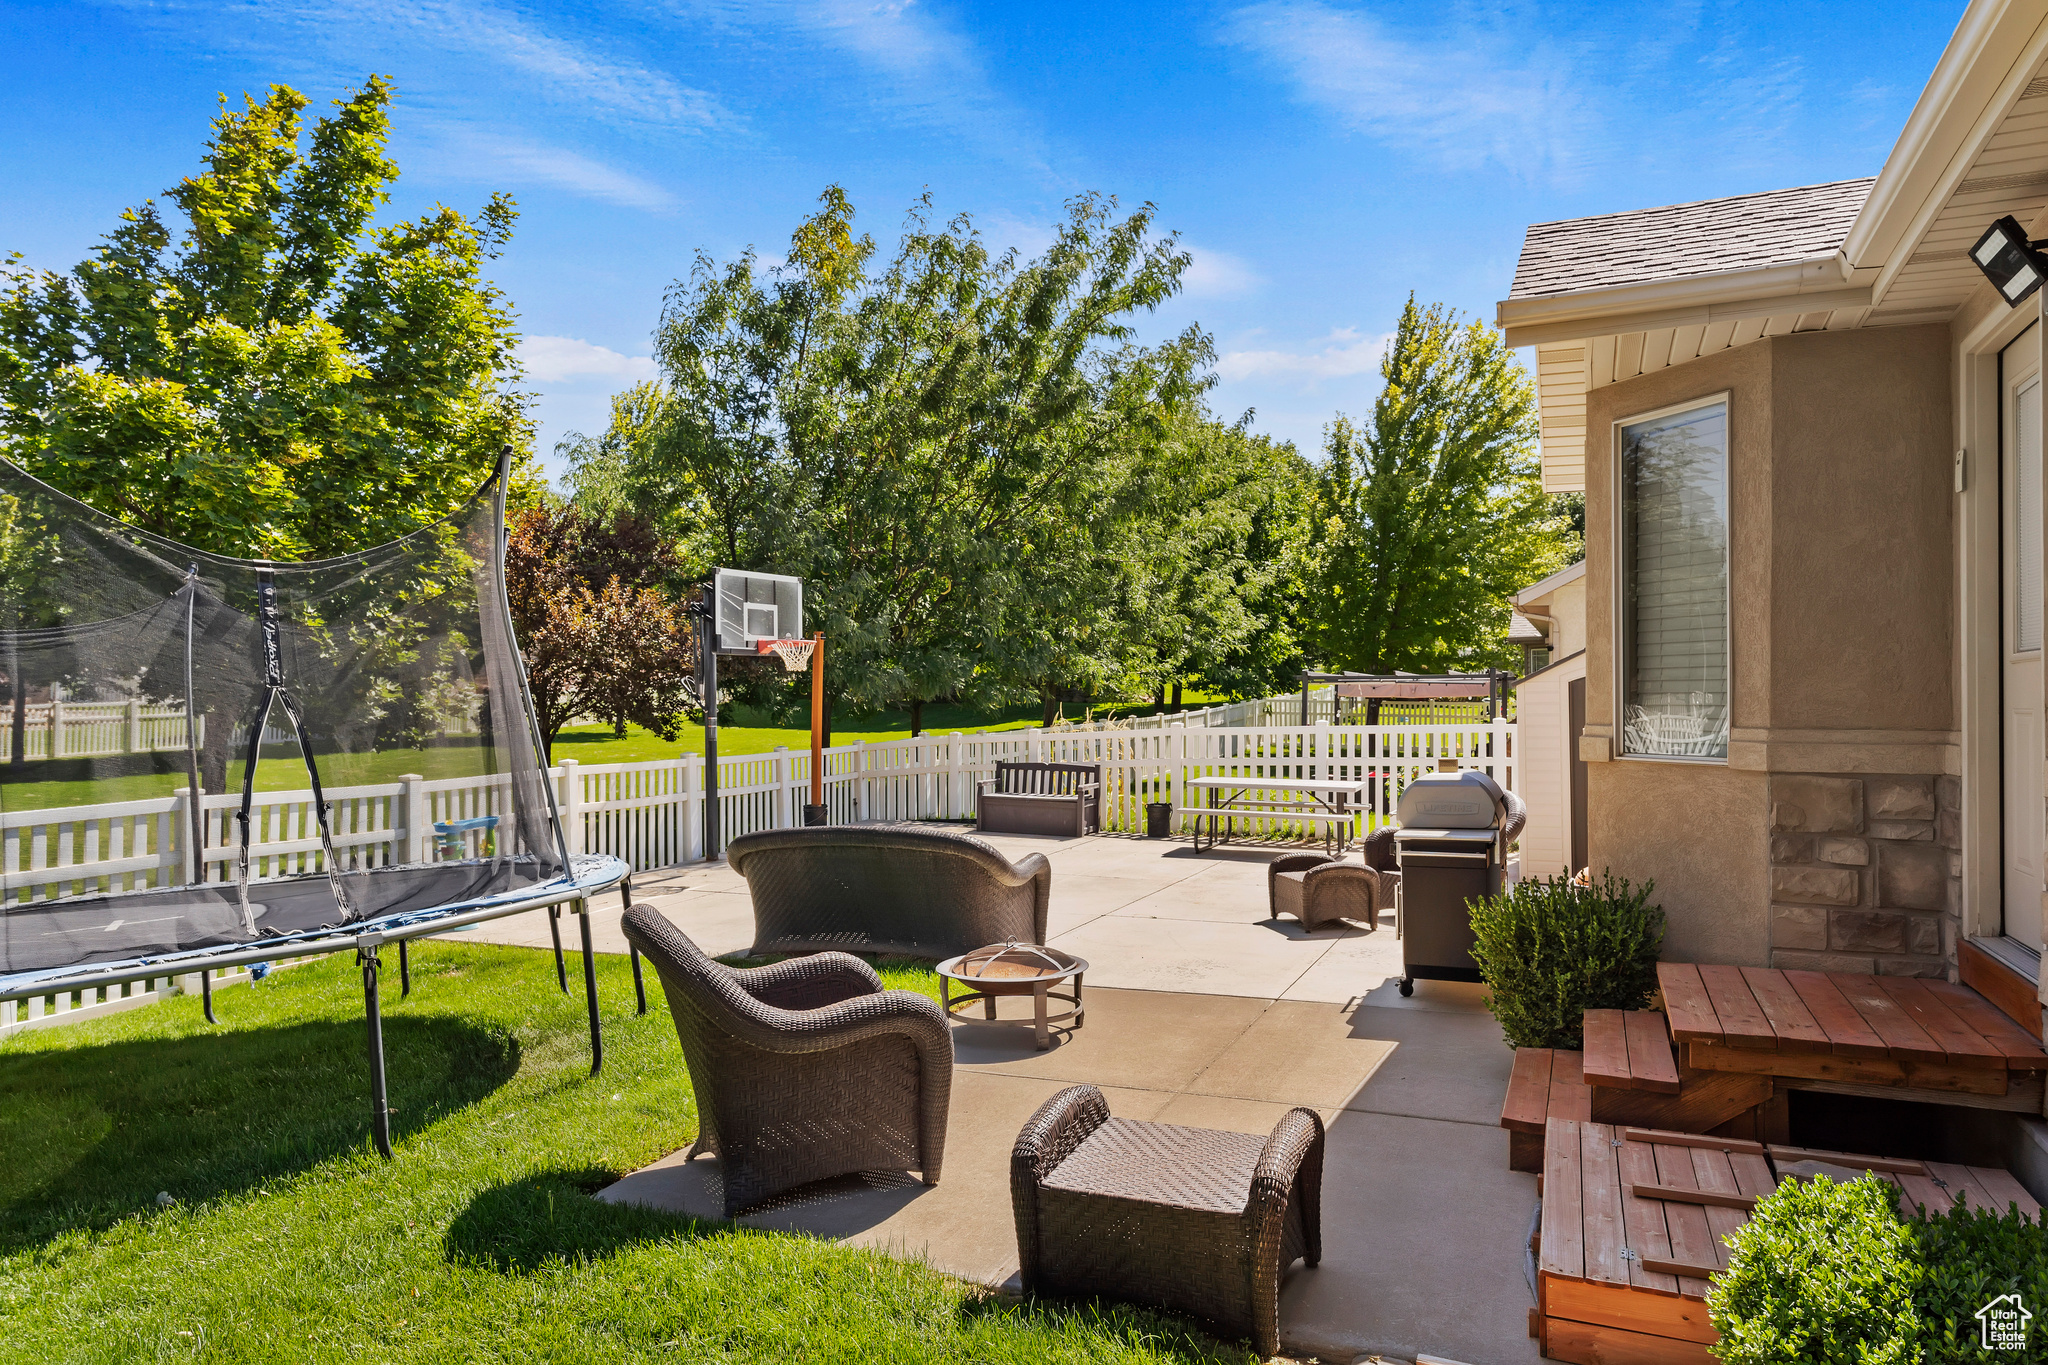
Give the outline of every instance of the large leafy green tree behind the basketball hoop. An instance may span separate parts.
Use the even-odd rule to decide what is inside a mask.
[[[1208,338],[1130,344],[1188,256],[1153,211],[1069,205],[1034,260],[928,205],[891,260],[840,188],[784,266],[698,256],[668,297],[659,393],[571,444],[580,495],[700,522],[698,563],[805,577],[827,692],[856,706],[1036,696],[1102,675],[1090,585],[1120,546],[1135,450],[1202,389]]]

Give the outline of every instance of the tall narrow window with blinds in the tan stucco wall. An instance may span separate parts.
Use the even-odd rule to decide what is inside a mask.
[[[1729,757],[1729,405],[1620,430],[1622,753]]]

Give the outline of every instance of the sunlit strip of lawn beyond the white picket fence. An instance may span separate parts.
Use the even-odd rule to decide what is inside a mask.
[[[1206,700],[1190,700],[1186,706],[1206,706]],[[1096,716],[1137,714],[1149,716],[1157,708],[1139,702],[1118,702],[1098,706]],[[776,729],[750,724],[762,720],[758,712],[739,708],[739,724],[719,729],[719,753],[737,757],[741,753],[770,753],[776,745],[809,749],[809,729]],[[977,712],[967,706],[934,704],[924,708],[924,729],[928,735],[950,731],[1016,731],[1034,726],[1040,720],[1036,706],[1012,708],[997,714]],[[881,739],[909,739],[909,712],[844,712],[834,722],[831,743],[850,745],[856,739],[868,743]],[[702,726],[686,726],[676,743],[664,741],[653,731],[637,724],[627,726],[627,737],[612,735],[608,724],[571,724],[555,737],[553,759],[575,759],[578,763],[645,763],[651,759],[672,759],[678,753],[702,753]],[[147,800],[170,796],[186,786],[182,753],[135,755],[125,759],[102,759],[96,772],[104,774],[125,767],[121,776],[100,776],[84,759],[59,759],[55,763],[25,763],[20,767],[0,767],[0,810],[49,810],[51,806],[84,806],[113,800]],[[319,780],[324,786],[375,786],[397,782],[403,774],[422,778],[457,778],[477,769],[475,749],[463,745],[436,749],[387,749],[383,753],[324,753],[319,755]],[[229,790],[242,790],[242,763],[227,769]],[[262,763],[256,765],[258,792],[297,792],[305,788],[305,763],[297,745],[266,745]]]

